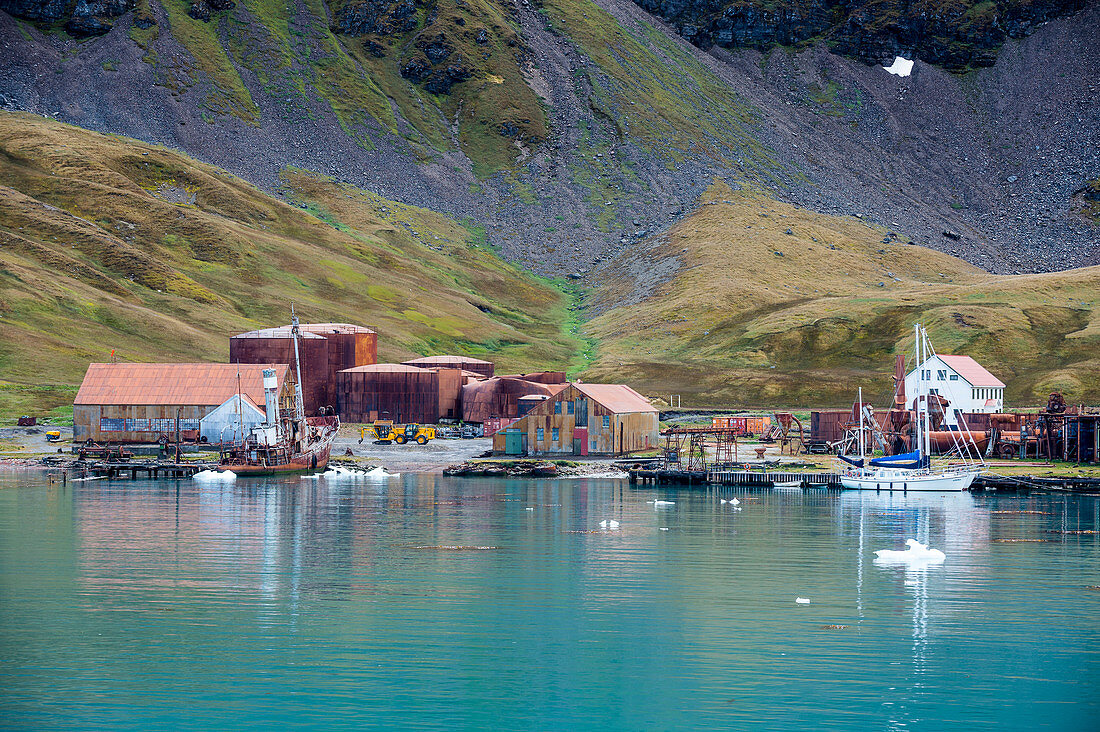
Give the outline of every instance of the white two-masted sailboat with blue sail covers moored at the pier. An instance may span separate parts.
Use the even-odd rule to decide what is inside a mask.
[[[916,335],[916,449],[904,455],[881,458],[866,456],[867,440],[864,424],[867,418],[864,406],[864,390],[859,390],[859,457],[837,456],[846,463],[840,473],[840,484],[857,491],[965,491],[981,472],[981,456],[977,462],[969,459],[970,445],[956,438],[954,447],[963,459],[961,466],[935,468],[932,465],[932,422],[928,414],[928,390],[924,381],[925,361],[935,354],[928,334],[923,326],[914,326]],[[873,420],[873,412],[870,418]]]

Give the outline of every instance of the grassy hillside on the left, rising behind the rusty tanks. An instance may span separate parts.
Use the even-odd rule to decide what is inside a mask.
[[[382,359],[521,370],[578,349],[566,298],[465,228],[306,172],[286,192],[314,214],[155,145],[4,112],[0,181],[0,412],[70,401],[111,350],[224,359],[228,336],[286,321],[290,303],[377,328]]]

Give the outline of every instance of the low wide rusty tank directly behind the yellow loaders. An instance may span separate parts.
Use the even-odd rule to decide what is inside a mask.
[[[439,374],[430,369],[402,363],[355,367],[338,374],[337,387],[346,422],[430,425],[439,419]]]

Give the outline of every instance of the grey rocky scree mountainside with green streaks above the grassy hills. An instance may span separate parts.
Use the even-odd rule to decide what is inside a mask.
[[[1081,203],[1100,176],[1097,3],[992,67],[898,78],[821,43],[704,53],[626,0],[136,0],[95,6],[112,26],[87,41],[19,2],[0,13],[0,105],[272,192],[286,166],[331,175],[469,219],[542,273],[588,277],[715,177],[993,272],[1100,261]]]

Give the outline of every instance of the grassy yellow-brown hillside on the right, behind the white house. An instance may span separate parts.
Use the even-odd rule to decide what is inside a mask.
[[[679,258],[676,276],[636,305],[615,307],[632,289],[624,277],[598,293],[610,309],[588,325],[601,342],[588,378],[692,405],[846,404],[858,384],[889,395],[893,354],[912,351],[920,319],[939,351],[999,375],[1010,404],[1053,389],[1100,400],[1100,267],[993,276],[724,184],[703,203],[653,254]]]

